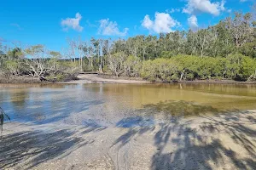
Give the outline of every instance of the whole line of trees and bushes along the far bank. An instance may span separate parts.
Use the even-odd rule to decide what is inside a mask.
[[[256,79],[256,5],[234,13],[215,26],[188,31],[139,35],[127,39],[68,39],[68,48],[43,45],[13,48],[0,43],[2,75],[57,77],[98,71],[113,77],[150,81]]]

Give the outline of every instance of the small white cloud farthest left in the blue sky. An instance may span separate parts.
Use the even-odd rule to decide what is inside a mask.
[[[75,31],[83,31],[83,27],[80,26],[80,20],[82,20],[82,15],[77,13],[75,18],[67,18],[65,20],[61,20],[61,26],[64,31],[68,31],[68,29],[73,29]]]

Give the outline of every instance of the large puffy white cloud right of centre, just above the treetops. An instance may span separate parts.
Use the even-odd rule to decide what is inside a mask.
[[[170,14],[156,12],[154,14],[154,20],[151,20],[147,14],[144,17],[142,26],[156,33],[167,33],[171,32],[173,27],[181,25],[177,20],[173,20]]]

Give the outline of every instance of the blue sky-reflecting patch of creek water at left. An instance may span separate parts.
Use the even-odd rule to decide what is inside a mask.
[[[69,89],[69,90],[68,90]],[[50,88],[7,88],[0,91],[1,105],[14,121],[35,123],[58,122],[90,105],[102,104],[102,99],[86,99],[78,86]]]

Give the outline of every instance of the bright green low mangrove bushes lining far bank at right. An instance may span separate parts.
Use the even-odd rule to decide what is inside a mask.
[[[253,80],[255,71],[256,59],[242,54],[230,54],[227,58],[177,55],[143,62],[141,76],[149,81],[164,82],[220,78],[246,81]]]

